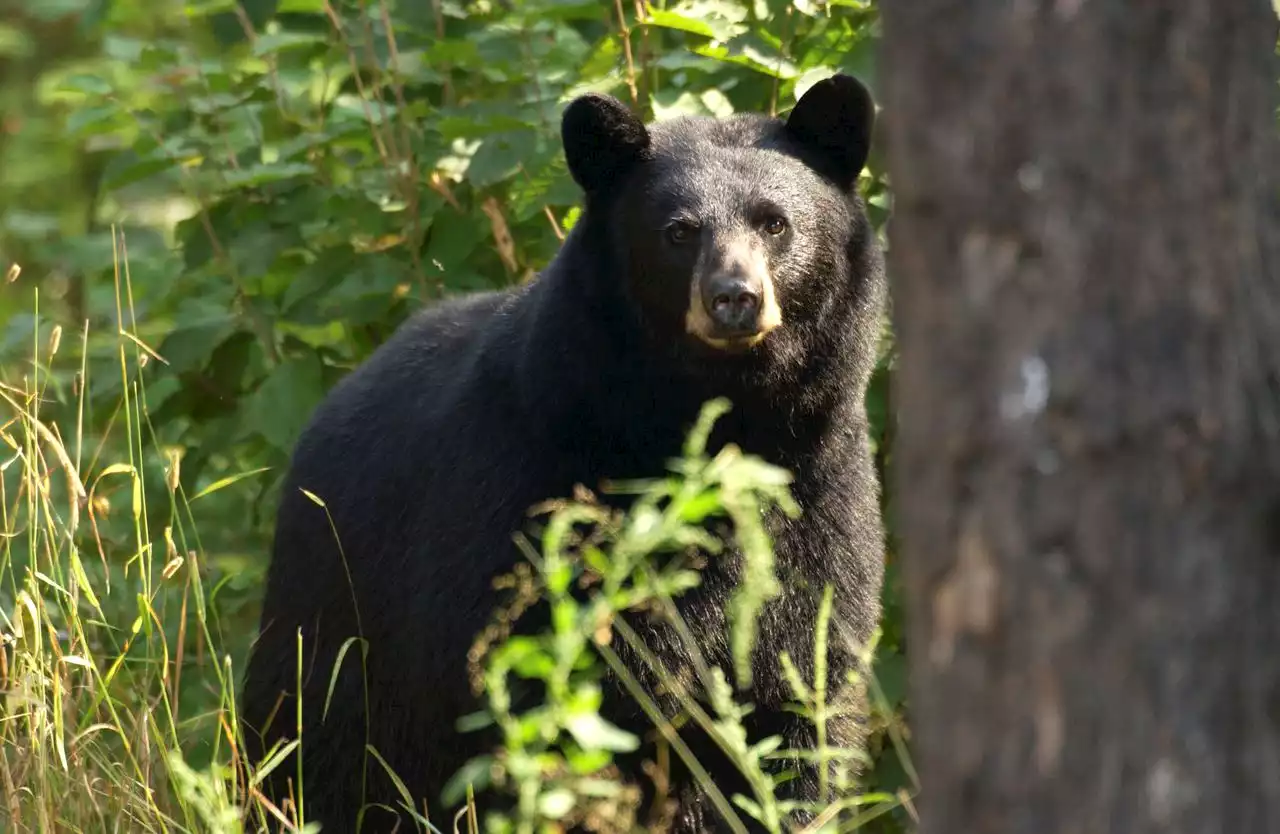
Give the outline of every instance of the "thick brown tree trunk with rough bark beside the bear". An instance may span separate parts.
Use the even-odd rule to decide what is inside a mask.
[[[1275,13],[883,19],[920,830],[1280,831]]]

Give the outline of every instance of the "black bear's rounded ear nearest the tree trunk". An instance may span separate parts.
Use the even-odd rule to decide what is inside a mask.
[[[867,164],[876,124],[872,93],[852,75],[837,74],[805,91],[787,116],[787,132],[818,152],[822,173],[851,188]]]

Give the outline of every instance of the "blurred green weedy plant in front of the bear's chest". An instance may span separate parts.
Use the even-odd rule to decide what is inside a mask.
[[[669,477],[631,485],[639,496],[628,512],[611,512],[591,496],[557,504],[541,537],[541,554],[529,554],[536,574],[516,572],[512,586],[518,594],[513,608],[522,610],[534,599],[545,600],[552,609],[550,627],[538,634],[511,637],[506,632],[515,617],[503,611],[492,629],[495,633],[481,637],[481,646],[495,638],[497,645],[485,655],[481,672],[488,709],[471,723],[495,723],[503,743],[495,755],[471,762],[451,784],[454,801],[462,798],[467,784],[483,789],[490,779],[518,797],[512,816],[489,815],[488,830],[531,834],[548,830],[548,824],[594,819],[608,821],[604,830],[626,831],[637,822],[637,794],[609,779],[607,765],[613,753],[635,750],[639,739],[600,718],[603,669],[596,659],[605,661],[640,704],[735,831],[746,830],[742,812],[768,830],[781,831],[785,815],[810,811],[827,820],[826,828],[812,828],[817,833],[836,830],[836,811],[842,807],[870,806],[864,815],[870,817],[900,805],[893,794],[859,789],[849,765],[859,761],[860,751],[832,748],[824,741],[827,718],[841,707],[855,706],[828,704],[826,697],[829,588],[817,623],[815,649],[822,660],[815,679],[803,681],[790,659],[783,657],[795,698],[818,728],[819,746],[813,755],[824,776],[831,765],[838,775],[835,791],[817,807],[777,798],[780,783],[771,760],[795,760],[805,753],[780,750],[782,739],[777,737],[748,743],[742,719],[751,705],[735,701],[726,670],[707,663],[698,637],[676,609],[675,600],[699,582],[690,555],[717,558],[723,549],[724,542],[712,536],[704,522],[727,515],[732,519],[732,544],[744,556],[744,574],[754,578],[740,585],[731,604],[731,610],[740,614],[731,620],[731,645],[741,677],[754,645],[755,618],[777,592],[772,547],[760,521],[771,510],[792,515],[799,512],[785,469],[735,446],[726,446],[714,458],[705,455],[710,426],[726,408],[721,400],[704,408],[685,457],[672,466]],[[576,588],[590,592],[579,597]],[[684,681],[646,650],[625,617],[639,611],[649,611],[672,628],[684,651],[696,659],[695,682]],[[620,643],[640,659],[644,674],[637,675],[622,661],[614,647]],[[727,797],[710,782],[641,678],[659,682],[678,698],[691,720],[740,767],[751,787],[750,797]],[[540,682],[545,696],[517,711],[513,679]],[[705,701],[698,697],[699,691]]]

